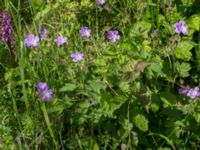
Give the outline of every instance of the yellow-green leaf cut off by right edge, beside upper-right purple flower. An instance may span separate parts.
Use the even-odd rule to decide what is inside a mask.
[[[188,21],[187,24],[189,26],[189,28],[195,29],[197,31],[199,31],[199,27],[200,27],[200,15],[192,15]]]

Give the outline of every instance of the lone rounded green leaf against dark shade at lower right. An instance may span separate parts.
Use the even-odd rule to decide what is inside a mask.
[[[149,129],[149,127],[148,127],[149,121],[142,114],[137,114],[136,116],[134,116],[133,122],[134,122],[135,126],[143,132],[145,132]]]

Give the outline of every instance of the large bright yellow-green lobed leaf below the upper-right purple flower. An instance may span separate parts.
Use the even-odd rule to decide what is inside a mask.
[[[192,58],[192,53],[190,50],[194,47],[194,43],[191,41],[181,41],[178,43],[177,48],[175,49],[176,58],[182,60],[190,60]]]

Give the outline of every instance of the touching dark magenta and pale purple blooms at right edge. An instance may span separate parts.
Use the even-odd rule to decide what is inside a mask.
[[[195,99],[200,96],[200,91],[198,87],[194,87],[191,89],[187,89],[186,87],[182,87],[179,89],[179,94],[186,94],[191,99]]]

